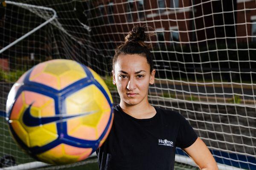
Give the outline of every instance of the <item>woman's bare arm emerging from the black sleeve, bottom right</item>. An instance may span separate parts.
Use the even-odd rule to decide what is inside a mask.
[[[183,150],[195,161],[200,170],[218,170],[215,159],[200,138]]]

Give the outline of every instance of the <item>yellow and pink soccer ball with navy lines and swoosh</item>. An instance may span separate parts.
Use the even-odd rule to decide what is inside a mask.
[[[67,59],[42,62],[9,92],[6,113],[16,142],[50,164],[86,159],[108,136],[113,100],[92,69]]]

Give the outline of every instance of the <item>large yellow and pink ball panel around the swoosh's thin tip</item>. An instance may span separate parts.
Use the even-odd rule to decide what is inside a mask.
[[[67,133],[79,139],[97,140],[105,129],[111,112],[104,94],[95,85],[89,85],[67,97],[66,106],[68,114],[95,111],[87,116],[67,120]]]

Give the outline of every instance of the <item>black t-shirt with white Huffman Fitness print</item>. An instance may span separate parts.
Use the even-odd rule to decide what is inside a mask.
[[[108,138],[96,150],[100,170],[173,170],[175,147],[186,148],[197,134],[179,113],[155,108],[149,119],[136,119],[114,108]]]

